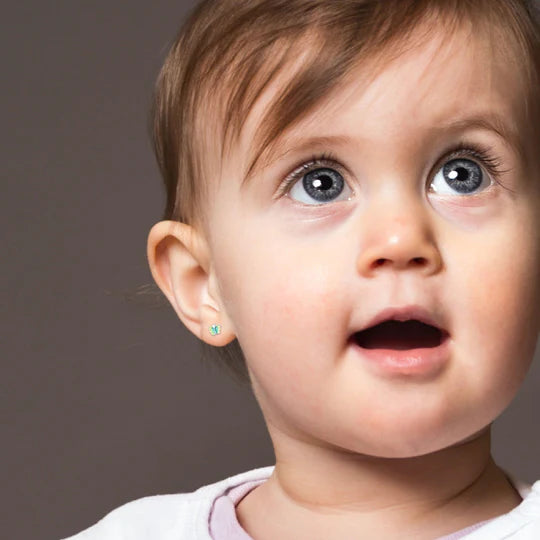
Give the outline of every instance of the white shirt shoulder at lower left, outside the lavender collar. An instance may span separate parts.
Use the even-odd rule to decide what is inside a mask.
[[[253,469],[190,493],[151,495],[115,508],[88,529],[64,540],[208,539],[214,500],[243,482],[268,478],[273,466]]]

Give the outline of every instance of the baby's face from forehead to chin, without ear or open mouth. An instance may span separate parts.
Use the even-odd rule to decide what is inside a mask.
[[[211,249],[277,447],[292,437],[421,455],[482,430],[515,396],[539,330],[540,176],[511,139],[478,124],[445,127],[497,115],[516,144],[534,148],[523,136],[519,66],[489,54],[456,35],[407,53],[367,89],[359,77],[240,189],[264,101],[253,110],[216,187]],[[346,140],[296,149],[298,139],[335,136]],[[466,153],[469,182],[456,189],[443,166],[460,139],[490,148],[508,189]],[[321,176],[306,189],[305,172],[276,196],[296,166],[328,152],[334,160],[312,167],[330,170],[326,198]],[[410,304],[445,321],[442,369],[374,368],[351,334]]]

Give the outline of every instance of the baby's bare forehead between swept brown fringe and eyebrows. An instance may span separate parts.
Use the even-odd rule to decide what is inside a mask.
[[[508,131],[517,138],[524,119],[519,65],[506,61],[486,33],[467,26],[449,33],[441,27],[429,39],[411,41],[389,62],[381,62],[386,60],[384,51],[359,61],[307,116],[280,133],[254,161],[265,115],[272,114],[276,95],[294,78],[303,57],[272,81],[244,123],[234,154],[234,163],[242,165],[242,187],[307,133],[383,143],[397,130],[412,135],[495,111],[506,118]]]

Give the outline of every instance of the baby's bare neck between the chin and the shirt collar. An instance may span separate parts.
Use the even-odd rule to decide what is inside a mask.
[[[246,510],[254,515],[265,508],[267,516],[286,516],[289,532],[296,523],[298,538],[327,526],[335,538],[365,531],[405,538],[399,536],[403,530],[411,531],[411,538],[434,538],[521,502],[491,457],[490,427],[452,447],[412,458],[378,458],[308,445],[283,434],[278,438],[272,476],[252,492],[251,501],[242,501],[238,512],[248,532],[254,533],[256,525]],[[259,532],[256,537],[265,536]]]

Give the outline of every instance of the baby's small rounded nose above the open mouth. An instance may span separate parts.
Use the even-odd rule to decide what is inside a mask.
[[[359,256],[359,271],[373,277],[380,271],[415,271],[424,276],[438,272],[442,266],[425,209],[403,207],[383,216],[372,216],[364,249]]]

